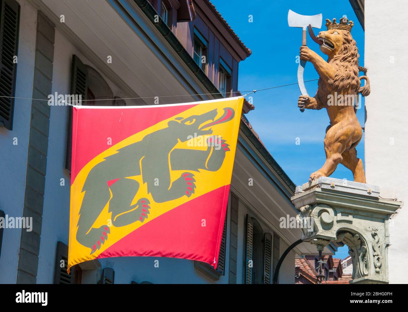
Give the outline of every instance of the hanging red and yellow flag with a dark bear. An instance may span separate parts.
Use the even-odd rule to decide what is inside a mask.
[[[118,256],[216,268],[243,102],[74,106],[68,270]]]

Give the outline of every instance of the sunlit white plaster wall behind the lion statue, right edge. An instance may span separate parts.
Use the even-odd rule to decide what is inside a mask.
[[[365,1],[365,65],[371,82],[366,98],[367,183],[381,197],[405,203],[390,225],[390,283],[408,283],[408,28],[406,0]]]

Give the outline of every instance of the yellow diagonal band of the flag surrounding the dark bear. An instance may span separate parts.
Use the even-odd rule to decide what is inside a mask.
[[[157,123],[156,125],[153,125],[147,129],[144,129],[143,131],[138,132],[137,134],[130,136],[129,138],[124,139],[120,143],[105,150],[104,152],[102,152],[101,154],[93,158],[88,164],[86,164],[82,168],[82,170],[78,173],[78,175],[75,178],[74,183],[71,185],[69,267],[77,263],[83,262],[83,261],[95,259],[100,253],[102,253],[108,247],[110,247],[111,245],[119,241],[121,238],[123,238],[127,234],[133,232],[138,227],[148,222],[153,221],[157,216],[160,216],[161,214],[164,214],[170,211],[171,209],[174,209],[175,207],[178,207],[186,203],[187,201],[192,200],[193,198],[196,198],[198,196],[211,192],[212,190],[222,187],[224,185],[230,184],[243,101],[244,101],[243,98],[238,98],[238,99],[234,99],[230,101],[228,100],[226,101],[224,100],[221,102],[214,101],[213,103],[203,103],[203,104],[196,105],[192,107],[191,109],[187,109],[186,111],[183,111],[182,113],[177,114],[176,116],[173,116],[172,118],[163,120],[160,123]],[[133,204],[136,203],[137,200],[142,197],[149,199],[151,203],[149,218],[145,219],[143,223],[141,223],[140,221],[136,221],[135,223],[132,223],[130,225],[126,225],[123,227],[111,226],[111,233],[108,235],[108,239],[102,245],[100,250],[97,250],[92,255],[89,254],[90,249],[88,247],[85,247],[81,245],[80,243],[78,243],[78,241],[76,241],[75,237],[76,237],[76,233],[78,230],[77,224],[78,224],[78,219],[79,219],[79,211],[80,211],[80,207],[81,207],[82,200],[84,197],[84,193],[82,193],[82,187],[84,185],[84,182],[90,170],[96,164],[100,163],[105,157],[117,153],[118,149],[142,140],[142,138],[144,138],[144,136],[146,136],[147,134],[150,134],[153,131],[157,131],[157,130],[166,128],[167,123],[170,120],[174,120],[175,117],[187,118],[192,115],[200,115],[207,111],[218,109],[218,116],[216,118],[219,118],[223,113],[222,108],[225,108],[225,107],[232,107],[235,110],[235,117],[233,118],[233,120],[230,120],[229,122],[213,126],[212,129],[213,129],[213,135],[222,136],[222,138],[224,138],[227,141],[227,143],[230,145],[229,148],[231,152],[226,153],[224,163],[218,171],[210,172],[207,170],[200,170],[200,172],[193,172],[193,174],[195,175],[194,178],[196,180],[195,184],[197,186],[195,190],[195,194],[192,194],[190,197],[182,196],[181,198],[178,198],[173,201],[166,202],[166,203],[155,203],[151,194],[148,194],[147,192],[147,185],[146,183],[143,183],[142,175],[128,177],[128,178],[132,178],[136,180],[140,184],[140,188],[137,194],[135,194],[135,197],[133,199]],[[200,137],[198,137],[198,139],[200,139]],[[194,148],[194,149],[203,149],[203,150],[207,149],[206,146],[191,147],[192,144],[193,144],[192,140],[184,142],[184,143],[179,141],[179,143],[177,143],[175,148],[189,148],[189,149]],[[186,170],[178,170],[178,171],[172,170],[171,171],[171,181],[175,181],[185,171]],[[104,207],[104,209],[102,210],[99,217],[95,220],[93,227],[98,228],[105,224],[110,225],[111,224],[109,222],[110,219],[111,219],[111,213],[109,213],[109,202],[108,202],[106,206]]]

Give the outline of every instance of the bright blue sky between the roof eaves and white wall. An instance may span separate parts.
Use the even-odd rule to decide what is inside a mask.
[[[323,0],[211,0],[228,24],[252,55],[239,64],[238,89],[242,91],[263,89],[297,82],[296,56],[302,45],[302,29],[288,27],[288,10],[302,15],[323,14],[322,30],[326,30],[326,18],[337,22],[344,15],[353,20],[351,31],[359,48],[359,65],[364,66],[364,31],[348,0],[327,2]],[[248,22],[248,16],[253,22]],[[318,30],[315,29],[317,35]],[[318,45],[307,38],[308,47],[320,52]],[[304,71],[304,80],[319,78],[312,64]],[[308,93],[313,96],[317,81],[306,82]],[[253,96],[255,110],[246,116],[259,134],[262,142],[279,165],[296,185],[308,181],[310,173],[319,169],[326,160],[323,140],[329,118],[326,109],[299,111],[297,100],[300,91],[297,85],[267,91]],[[363,107],[357,117],[364,126]],[[296,138],[300,145],[296,145]],[[364,161],[364,136],[357,147],[357,155]],[[350,170],[339,165],[332,175],[353,181]],[[348,248],[339,248],[336,257],[348,256]]]

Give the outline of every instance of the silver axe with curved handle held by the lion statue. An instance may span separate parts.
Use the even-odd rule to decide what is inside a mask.
[[[288,12],[288,25],[289,27],[302,27],[302,46],[306,46],[306,30],[309,27],[310,36],[314,41],[318,42],[315,35],[313,34],[312,27],[320,28],[322,27],[322,13],[317,15],[300,15],[292,10]],[[318,42],[319,43],[319,42]],[[319,43],[320,44],[320,43]],[[299,67],[297,68],[297,83],[299,85],[300,92],[302,95],[309,95],[306,91],[305,83],[303,81],[303,71],[306,65],[305,60],[300,60]],[[304,108],[300,111],[303,113]]]

